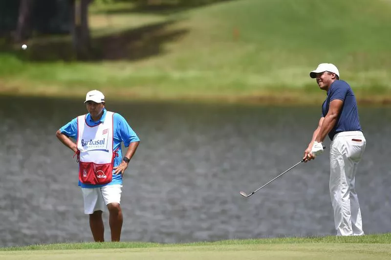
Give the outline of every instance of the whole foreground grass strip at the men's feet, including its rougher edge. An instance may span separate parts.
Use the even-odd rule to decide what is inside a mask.
[[[99,249],[99,250],[97,250]],[[225,259],[382,260],[391,257],[391,234],[363,237],[224,240],[188,244],[67,243],[0,248],[0,259]]]

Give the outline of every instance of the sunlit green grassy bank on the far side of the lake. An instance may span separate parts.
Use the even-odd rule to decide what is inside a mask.
[[[333,62],[361,102],[387,103],[390,13],[389,0],[93,7],[93,60],[72,61],[67,37],[32,39],[26,51],[0,54],[0,93],[83,97],[100,89],[109,99],[318,103],[325,93],[308,73]]]

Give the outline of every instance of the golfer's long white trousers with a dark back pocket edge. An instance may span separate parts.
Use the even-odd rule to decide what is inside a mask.
[[[330,196],[337,236],[364,235],[354,177],[366,146],[361,131],[341,132],[330,145]]]

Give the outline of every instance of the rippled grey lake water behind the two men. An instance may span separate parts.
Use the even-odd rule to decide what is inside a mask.
[[[140,137],[122,192],[122,241],[334,235],[328,150],[302,158],[319,106],[111,103]],[[356,190],[367,234],[391,232],[391,112],[359,107]],[[92,241],[73,153],[55,137],[83,100],[0,97],[0,246]],[[326,140],[325,144],[329,145]],[[109,240],[108,213],[104,214]]]

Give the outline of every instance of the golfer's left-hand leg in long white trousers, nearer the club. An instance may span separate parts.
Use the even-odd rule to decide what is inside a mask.
[[[350,192],[345,175],[343,138],[333,140],[330,147],[330,197],[334,210],[334,224],[337,236],[353,234],[350,215]]]

